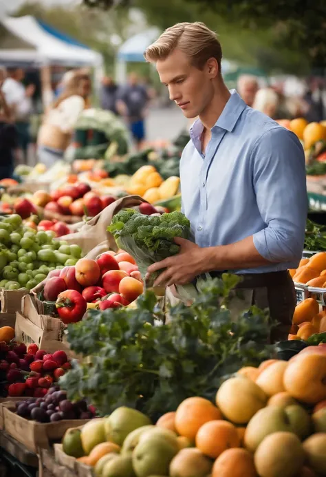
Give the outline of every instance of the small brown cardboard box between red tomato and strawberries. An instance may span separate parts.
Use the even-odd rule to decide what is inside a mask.
[[[41,325],[41,315],[38,315],[39,325]],[[60,321],[58,319],[58,321]],[[63,350],[69,356],[72,353],[69,350],[69,343],[65,336],[65,328],[63,323],[58,330],[43,330],[41,326],[34,324],[30,319],[17,312],[16,324],[14,327],[17,341],[21,341],[28,346],[30,343],[36,343],[39,349],[46,350],[47,352],[54,352],[56,350]]]

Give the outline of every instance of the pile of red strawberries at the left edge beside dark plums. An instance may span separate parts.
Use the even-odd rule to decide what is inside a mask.
[[[58,350],[47,353],[36,344],[26,348],[14,339],[14,329],[0,328],[1,396],[34,396],[46,394],[54,381],[71,368],[67,354]]]

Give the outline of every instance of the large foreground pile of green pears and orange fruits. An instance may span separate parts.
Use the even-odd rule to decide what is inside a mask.
[[[98,477],[325,476],[325,377],[325,348],[305,348],[290,361],[241,368],[215,403],[185,399],[155,426],[119,407],[68,430],[63,451]]]

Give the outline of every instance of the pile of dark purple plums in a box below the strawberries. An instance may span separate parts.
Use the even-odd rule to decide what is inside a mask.
[[[16,414],[39,423],[54,423],[63,419],[92,419],[94,408],[88,406],[85,399],[72,403],[67,399],[67,393],[59,386],[47,390],[42,398],[30,398],[17,401]]]

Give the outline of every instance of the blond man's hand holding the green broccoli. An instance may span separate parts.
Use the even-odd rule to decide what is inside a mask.
[[[148,273],[153,273],[166,268],[154,282],[154,286],[184,285],[206,271],[209,266],[208,248],[198,245],[180,237],[175,237],[175,243],[180,245],[180,252],[173,257],[166,258],[148,268]]]

